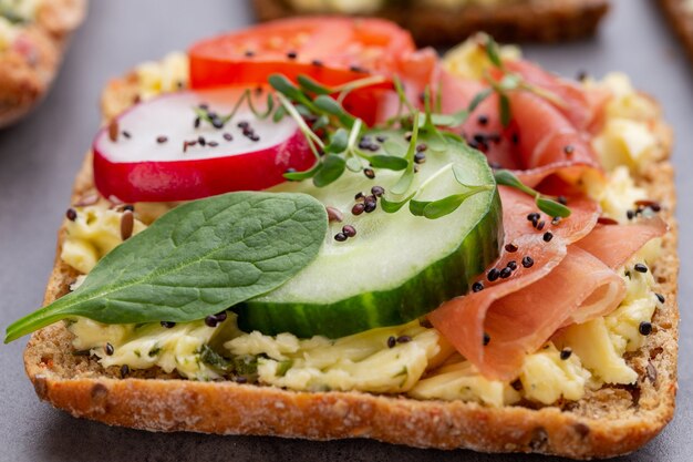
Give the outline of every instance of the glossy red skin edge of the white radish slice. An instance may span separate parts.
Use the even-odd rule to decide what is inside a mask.
[[[107,129],[104,129],[107,130]],[[288,168],[310,168],[314,156],[300,131],[283,143],[245,154],[190,161],[112,162],[94,146],[94,183],[122,202],[190,201],[285,182]]]

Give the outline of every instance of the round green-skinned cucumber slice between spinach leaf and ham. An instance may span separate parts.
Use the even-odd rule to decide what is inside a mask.
[[[386,136],[406,145],[401,132],[387,132]],[[426,162],[418,165],[410,191],[432,175],[436,178],[417,199],[434,201],[464,191],[454,178],[452,164],[462,167],[465,184],[495,185],[483,154],[457,141],[424,137],[421,142],[427,145]],[[401,175],[379,170],[371,179],[346,171],[322,188],[310,181],[278,186],[275,191],[311,194],[325,206],[339,208],[344,219],[330,224],[311,265],[278,289],[237,307],[240,328],[267,335],[338,338],[410,321],[466,294],[473,278],[499,254],[503,225],[497,189],[478,193],[437,219],[414,216],[407,206],[389,214],[380,202],[372,213],[351,213],[356,193],[369,195],[374,185],[387,191]],[[356,236],[338,242],[334,235],[343,225],[352,225]]]

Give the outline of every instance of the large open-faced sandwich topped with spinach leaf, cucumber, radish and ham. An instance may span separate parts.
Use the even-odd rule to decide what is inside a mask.
[[[24,360],[138,429],[609,456],[672,418],[671,134],[627,76],[276,22],[112,81]]]

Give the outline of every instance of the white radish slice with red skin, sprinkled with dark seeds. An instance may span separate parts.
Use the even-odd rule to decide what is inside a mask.
[[[101,194],[122,202],[187,201],[265,189],[282,183],[289,168],[309,168],[314,156],[290,117],[259,120],[244,103],[225,126],[201,121],[196,127],[195,107],[206,104],[223,116],[244,91],[180,91],[121,114],[94,140]]]

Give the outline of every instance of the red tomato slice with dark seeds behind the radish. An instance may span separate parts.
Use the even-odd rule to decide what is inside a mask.
[[[391,75],[400,58],[414,50],[411,34],[390,21],[293,18],[196,43],[188,52],[190,85],[266,83],[272,73],[339,85],[369,74]]]

